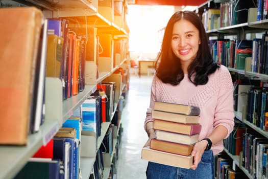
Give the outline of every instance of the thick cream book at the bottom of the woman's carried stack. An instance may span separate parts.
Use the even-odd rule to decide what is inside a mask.
[[[181,167],[181,168],[190,168],[193,163],[192,155],[184,156],[178,155],[158,150],[150,149],[149,147],[142,148],[141,159],[148,160],[151,162]]]

